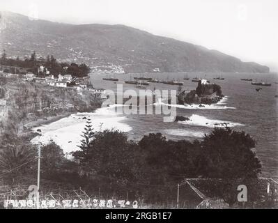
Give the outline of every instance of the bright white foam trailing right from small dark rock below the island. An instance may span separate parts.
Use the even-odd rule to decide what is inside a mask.
[[[196,114],[192,114],[189,117],[189,121],[178,121],[178,123],[183,123],[185,125],[199,125],[199,126],[206,126],[208,128],[215,128],[215,127],[234,127],[236,125],[243,125],[240,123],[234,123],[231,121],[221,121],[217,119],[208,119],[204,116],[199,116]]]

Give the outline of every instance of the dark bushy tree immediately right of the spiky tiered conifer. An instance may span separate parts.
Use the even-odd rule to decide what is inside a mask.
[[[134,149],[137,145],[128,141],[124,132],[105,130],[95,132],[88,148],[72,153],[88,173],[108,180],[110,190],[126,187],[134,181]]]

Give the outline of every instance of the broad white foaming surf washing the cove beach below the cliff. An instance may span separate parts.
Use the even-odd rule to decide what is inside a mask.
[[[54,141],[61,146],[64,153],[77,151],[82,140],[82,131],[84,130],[86,121],[91,119],[93,131],[100,130],[120,130],[122,132],[130,132],[132,127],[122,123],[126,118],[118,116],[113,109],[109,107],[96,109],[92,113],[77,113],[69,117],[62,118],[59,121],[33,128],[34,132],[40,129],[41,135],[31,140],[32,144],[47,144]]]

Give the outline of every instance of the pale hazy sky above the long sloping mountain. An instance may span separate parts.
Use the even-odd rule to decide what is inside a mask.
[[[0,0],[0,10],[72,24],[125,24],[278,71],[277,0]]]

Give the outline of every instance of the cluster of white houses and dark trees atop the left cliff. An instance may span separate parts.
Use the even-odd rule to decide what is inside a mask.
[[[85,64],[59,63],[54,56],[47,56],[47,59],[36,59],[33,52],[30,58],[24,61],[8,59],[4,51],[0,59],[0,77],[10,79],[21,79],[24,82],[35,82],[52,87],[72,88],[78,93],[91,91],[106,98],[105,89],[96,89],[91,83],[88,73],[90,68]]]

